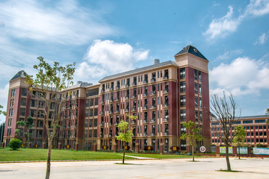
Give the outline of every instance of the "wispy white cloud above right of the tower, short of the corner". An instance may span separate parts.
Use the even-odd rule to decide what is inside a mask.
[[[212,20],[203,35],[209,36],[210,39],[214,39],[218,36],[225,37],[229,33],[236,31],[241,22],[241,18],[233,18],[233,7],[229,6],[228,8],[229,11],[225,16]]]

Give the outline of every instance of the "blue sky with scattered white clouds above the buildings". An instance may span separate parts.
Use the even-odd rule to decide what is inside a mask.
[[[210,92],[232,91],[242,115],[269,107],[268,0],[0,0],[0,104],[37,57],[76,62],[75,81],[174,61],[187,45],[209,60]],[[4,116],[0,116],[4,121]]]

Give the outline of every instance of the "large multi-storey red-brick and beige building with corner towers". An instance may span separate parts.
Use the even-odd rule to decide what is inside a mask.
[[[128,144],[131,150],[151,146],[158,151],[163,146],[165,152],[171,152],[172,146],[178,146],[180,151],[190,151],[188,141],[180,139],[186,132],[182,123],[189,120],[201,128],[204,137],[197,149],[210,146],[210,120],[205,112],[209,108],[208,60],[190,45],[174,58],[162,63],[153,59],[150,66],[105,77],[97,85],[78,82],[63,91],[60,97],[69,91],[72,95],[61,109],[61,127],[54,144],[75,147],[78,142],[79,149],[89,150],[94,144],[97,149],[116,145],[121,150],[123,144],[116,140],[118,124],[131,114],[137,116],[130,124],[134,134]],[[39,111],[46,109],[39,108],[42,101],[27,93],[24,73],[18,72],[9,82],[4,141],[8,144],[15,138],[16,121],[30,115],[35,123],[31,141],[41,145],[46,142],[46,130]]]

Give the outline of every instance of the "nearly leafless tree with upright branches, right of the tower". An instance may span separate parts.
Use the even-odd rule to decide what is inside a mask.
[[[232,126],[239,120],[241,115],[241,109],[237,109],[237,104],[233,98],[232,93],[227,97],[223,91],[223,97],[219,97],[218,94],[210,95],[210,111],[216,116],[211,119],[212,133],[216,134],[225,144],[226,163],[227,170],[231,171],[231,165],[229,161],[229,145],[234,136],[230,137]],[[238,114],[239,117],[236,117]],[[213,130],[214,129],[214,130]]]

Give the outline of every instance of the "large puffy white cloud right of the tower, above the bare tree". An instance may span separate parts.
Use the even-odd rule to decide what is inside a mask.
[[[240,57],[231,64],[220,64],[209,72],[211,93],[230,90],[234,95],[259,95],[269,89],[269,63],[263,60]],[[214,88],[214,87],[218,88]]]

